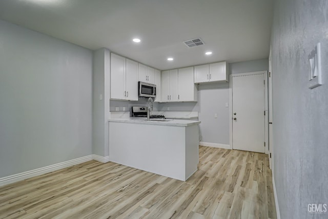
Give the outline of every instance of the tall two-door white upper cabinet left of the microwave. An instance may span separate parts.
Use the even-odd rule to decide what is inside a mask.
[[[138,63],[111,53],[111,99],[138,100]]]

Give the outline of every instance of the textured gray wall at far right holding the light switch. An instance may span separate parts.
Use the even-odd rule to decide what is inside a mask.
[[[281,218],[327,218],[328,1],[277,0],[272,29],[274,178]],[[321,42],[323,85],[309,89],[308,54]]]

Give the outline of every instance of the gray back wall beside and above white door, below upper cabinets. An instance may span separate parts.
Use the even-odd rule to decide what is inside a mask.
[[[268,59],[229,64],[230,74],[268,70]],[[197,103],[161,103],[159,109],[166,111],[199,111],[202,142],[230,145],[229,83],[198,85]],[[217,113],[217,118],[214,118]]]

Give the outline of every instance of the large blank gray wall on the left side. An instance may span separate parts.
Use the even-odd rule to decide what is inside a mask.
[[[0,30],[0,177],[92,154],[92,51]]]

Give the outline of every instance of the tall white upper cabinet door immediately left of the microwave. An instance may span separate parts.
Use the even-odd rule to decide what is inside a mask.
[[[129,101],[138,100],[138,63],[126,59],[126,97]]]

